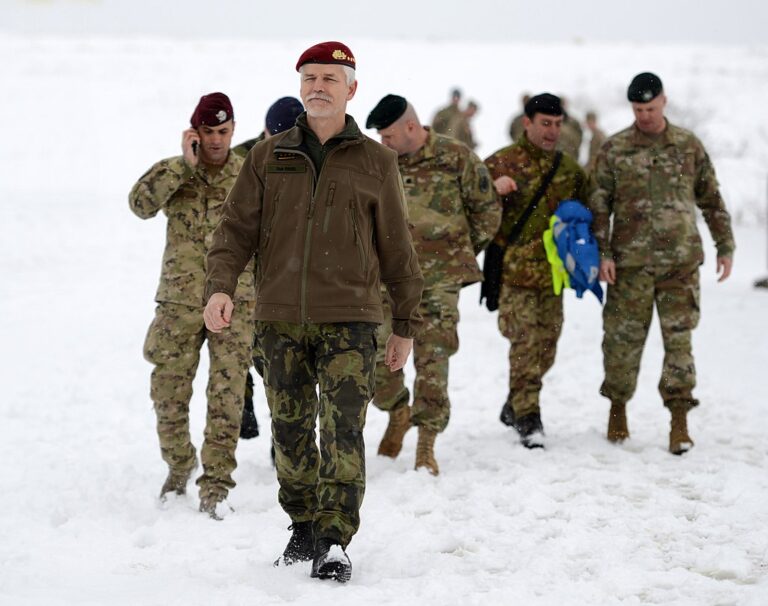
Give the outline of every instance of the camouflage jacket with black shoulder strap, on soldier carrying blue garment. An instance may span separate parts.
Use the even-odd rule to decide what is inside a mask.
[[[517,183],[517,191],[502,197],[501,228],[494,238],[504,246],[518,219],[530,204],[542,179],[549,172],[555,152],[545,151],[523,133],[517,143],[500,149],[485,163],[493,180],[508,175]],[[505,275],[518,286],[551,287],[551,270],[544,250],[542,234],[549,229],[549,219],[563,200],[587,200],[587,177],[578,163],[563,154],[560,166],[517,240],[507,247]],[[530,275],[531,272],[535,275]],[[508,275],[518,273],[519,275]]]

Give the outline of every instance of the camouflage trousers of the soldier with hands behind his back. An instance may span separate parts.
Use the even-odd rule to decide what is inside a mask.
[[[435,432],[445,430],[451,414],[448,399],[448,359],[459,349],[459,286],[431,288],[421,296],[419,312],[424,325],[413,341],[416,380],[413,385],[411,422]],[[386,300],[386,299],[385,299]],[[392,333],[392,311],[384,305],[384,324],[379,326],[376,353],[376,394],[373,403],[381,410],[407,406],[410,393],[402,370],[384,365],[386,341]]]

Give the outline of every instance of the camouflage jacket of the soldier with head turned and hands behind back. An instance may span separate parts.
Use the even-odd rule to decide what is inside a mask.
[[[424,288],[482,279],[475,255],[490,243],[501,207],[483,161],[429,130],[416,153],[398,158]]]

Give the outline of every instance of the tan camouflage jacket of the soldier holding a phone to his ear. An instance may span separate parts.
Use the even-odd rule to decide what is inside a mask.
[[[219,223],[227,193],[243,165],[230,153],[216,174],[198,164],[192,169],[182,156],[161,160],[133,186],[128,201],[142,219],[163,211],[168,217],[160,286],[155,300],[200,307],[204,304],[206,254]],[[240,275],[236,299],[253,301],[252,264]]]

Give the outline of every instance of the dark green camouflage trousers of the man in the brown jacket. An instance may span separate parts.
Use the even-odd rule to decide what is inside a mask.
[[[376,324],[257,322],[256,330],[280,505],[293,522],[312,521],[315,540],[346,546],[360,526],[365,493],[363,427]]]

